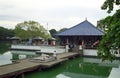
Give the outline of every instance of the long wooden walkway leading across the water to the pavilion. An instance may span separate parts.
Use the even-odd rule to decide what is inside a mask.
[[[47,68],[66,61],[68,58],[75,57],[78,53],[62,53],[57,55],[57,60],[49,62],[31,62],[29,59],[21,60],[18,63],[0,66],[0,78],[9,78],[19,74],[33,71],[40,68]]]

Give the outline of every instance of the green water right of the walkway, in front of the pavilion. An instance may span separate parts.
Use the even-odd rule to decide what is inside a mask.
[[[118,60],[110,63],[97,58],[75,58],[50,69],[31,72],[25,78],[108,78],[112,68],[119,69],[119,64]]]

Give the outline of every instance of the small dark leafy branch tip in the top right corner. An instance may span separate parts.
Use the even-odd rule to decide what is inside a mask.
[[[111,13],[111,11],[114,8],[114,4],[120,5],[120,0],[105,0],[104,4],[102,5],[101,9],[106,10],[108,9],[108,13]]]

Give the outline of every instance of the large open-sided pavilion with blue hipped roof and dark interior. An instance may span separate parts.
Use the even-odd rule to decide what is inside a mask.
[[[60,45],[72,45],[74,51],[78,51],[79,45],[85,49],[95,49],[104,35],[103,31],[96,28],[87,19],[63,32],[57,33]]]

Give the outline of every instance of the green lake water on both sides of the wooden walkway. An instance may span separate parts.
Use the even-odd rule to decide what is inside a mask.
[[[7,51],[0,54],[0,65],[39,56],[34,52]],[[49,69],[25,74],[25,78],[119,78],[114,73],[120,72],[120,61],[102,62],[98,58],[78,57],[63,62]]]

